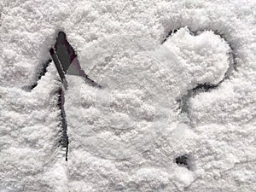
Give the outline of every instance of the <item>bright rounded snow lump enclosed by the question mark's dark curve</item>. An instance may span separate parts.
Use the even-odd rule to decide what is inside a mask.
[[[165,45],[185,63],[187,79],[193,87],[204,83],[218,84],[230,66],[230,48],[213,32],[192,36],[188,28],[181,28],[167,39]]]

